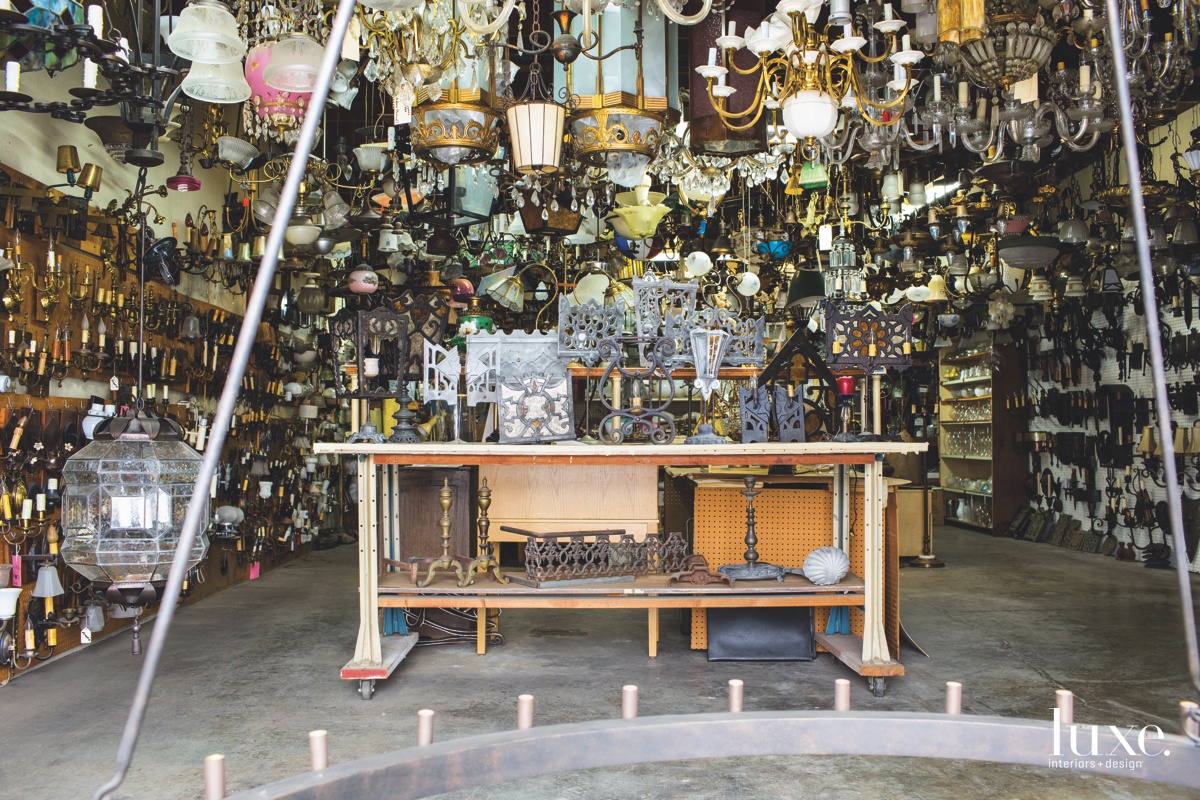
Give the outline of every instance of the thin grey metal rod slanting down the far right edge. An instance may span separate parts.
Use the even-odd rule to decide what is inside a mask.
[[[1121,11],[1117,0],[1105,0],[1110,42],[1121,42]],[[1183,637],[1188,650],[1188,672],[1192,685],[1200,692],[1200,645],[1196,642],[1195,609],[1192,603],[1192,578],[1188,573],[1183,543],[1183,504],[1175,469],[1175,437],[1171,433],[1171,404],[1166,397],[1166,365],[1163,360],[1162,329],[1158,305],[1154,302],[1154,272],[1150,264],[1150,230],[1146,225],[1146,204],[1141,191],[1141,161],[1138,156],[1138,134],[1133,127],[1133,103],[1126,72],[1124,48],[1110,47],[1112,72],[1117,84],[1117,107],[1121,109],[1121,142],[1124,145],[1126,167],[1129,170],[1129,205],[1138,242],[1138,267],[1141,278],[1142,306],[1146,312],[1146,338],[1154,378],[1154,408],[1158,416],[1158,440],[1163,447],[1163,477],[1166,482],[1166,504],[1170,509],[1171,541],[1175,543],[1175,572],[1180,583],[1180,604],[1183,612]]]

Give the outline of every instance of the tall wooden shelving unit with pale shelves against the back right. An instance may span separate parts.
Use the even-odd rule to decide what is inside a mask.
[[[948,524],[996,534],[1024,501],[1022,461],[1003,410],[1003,397],[1020,383],[1015,365],[1012,345],[990,335],[938,354],[938,477]]]

